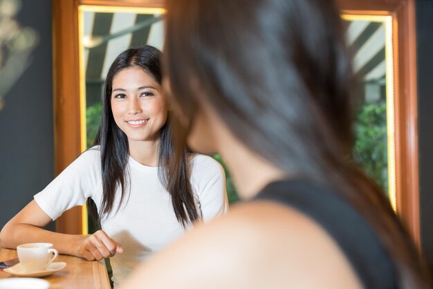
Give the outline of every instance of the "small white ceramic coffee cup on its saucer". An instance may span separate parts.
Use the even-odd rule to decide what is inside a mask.
[[[53,249],[51,243],[28,243],[17,246],[19,263],[23,265],[27,272],[37,272],[44,270],[59,252]],[[54,256],[52,256],[54,254]]]

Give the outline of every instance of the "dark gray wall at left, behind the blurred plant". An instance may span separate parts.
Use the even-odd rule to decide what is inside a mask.
[[[52,3],[21,4],[17,19],[37,30],[39,44],[0,111],[0,228],[54,176]]]

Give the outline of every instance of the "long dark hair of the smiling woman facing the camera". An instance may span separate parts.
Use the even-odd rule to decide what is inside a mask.
[[[117,210],[120,209],[125,196],[127,196],[130,182],[127,174],[128,139],[126,134],[117,126],[111,111],[113,78],[123,69],[139,67],[153,77],[158,84],[161,84],[160,59],[160,50],[153,46],[129,48],[114,60],[107,73],[102,92],[102,119],[94,142],[94,145],[100,145],[101,154],[103,196],[99,214],[96,213],[95,204],[88,202],[89,209],[98,223],[100,218],[107,216],[115,209],[115,206],[117,206]],[[160,130],[158,176],[172,196],[172,205],[177,220],[185,226],[199,218],[199,214],[196,211],[190,184],[188,151],[185,146],[177,150],[176,160],[178,162],[176,165],[170,165],[170,160],[174,158],[176,153],[172,145],[172,138],[172,118],[169,113],[167,121]],[[120,203],[115,204],[114,199],[118,186],[121,187]]]

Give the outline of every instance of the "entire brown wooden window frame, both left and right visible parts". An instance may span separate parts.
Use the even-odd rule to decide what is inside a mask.
[[[416,97],[416,27],[414,0],[338,0],[344,14],[391,15],[393,18],[396,205],[419,246],[418,124]],[[78,7],[163,8],[163,0],[53,0],[55,173],[82,152]],[[83,209],[65,212],[57,232],[82,234]]]

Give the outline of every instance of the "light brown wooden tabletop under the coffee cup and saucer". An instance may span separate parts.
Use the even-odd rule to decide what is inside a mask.
[[[0,261],[13,258],[17,258],[17,250],[9,250],[0,247]],[[59,255],[55,261],[66,262],[66,267],[55,272],[53,275],[43,278],[50,282],[50,289],[111,288],[107,268],[105,268],[103,260],[101,262],[86,261],[73,256]],[[13,278],[13,275],[0,271],[0,279],[9,277]]]

